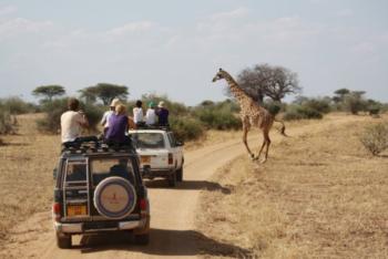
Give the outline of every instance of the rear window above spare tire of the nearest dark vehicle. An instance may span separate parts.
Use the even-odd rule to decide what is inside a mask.
[[[93,186],[110,176],[120,176],[134,184],[132,160],[129,158],[92,159],[90,172]]]

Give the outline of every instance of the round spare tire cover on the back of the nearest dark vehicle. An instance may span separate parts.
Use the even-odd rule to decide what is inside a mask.
[[[136,191],[122,177],[103,179],[94,190],[94,206],[106,218],[120,219],[129,216],[136,205]]]

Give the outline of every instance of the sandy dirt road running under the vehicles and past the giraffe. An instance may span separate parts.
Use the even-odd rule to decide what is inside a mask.
[[[335,117],[314,124],[297,126],[288,131],[290,135],[309,132],[312,127],[329,127],[338,122]],[[252,134],[254,135],[254,134]],[[257,136],[257,133],[255,133]],[[272,133],[274,143],[282,139]],[[258,138],[249,138],[257,148]],[[197,200],[201,190],[223,191],[224,186],[212,183],[213,173],[228,160],[245,152],[239,138],[206,146],[185,153],[184,182],[174,189],[165,180],[147,182],[151,199],[151,241],[146,247],[129,242],[130,236],[106,235],[98,237],[73,237],[74,248],[61,250],[55,246],[51,214],[37,214],[28,221],[12,229],[11,244],[2,248],[0,257],[6,258],[152,258],[152,257],[196,257],[200,251],[196,240],[217,244],[206,237],[206,232],[195,230],[195,217],[201,211]],[[269,162],[270,163],[270,159]],[[219,245],[219,244],[218,244]],[[227,245],[233,246],[233,245]]]

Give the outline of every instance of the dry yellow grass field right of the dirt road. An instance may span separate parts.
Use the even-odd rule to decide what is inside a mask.
[[[294,137],[279,138],[265,165],[244,155],[219,169],[214,180],[231,194],[204,191],[197,226],[249,251],[221,256],[388,257],[388,158],[371,157],[358,141],[377,120],[328,120],[304,122]],[[219,250],[206,244],[202,249],[205,257]]]

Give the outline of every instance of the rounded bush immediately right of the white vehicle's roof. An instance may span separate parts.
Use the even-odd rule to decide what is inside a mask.
[[[194,141],[204,134],[201,122],[191,117],[171,117],[170,125],[175,137],[181,141]]]

